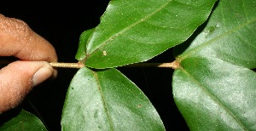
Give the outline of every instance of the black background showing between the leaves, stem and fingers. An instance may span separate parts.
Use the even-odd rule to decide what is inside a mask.
[[[61,62],[76,62],[80,34],[99,24],[108,1],[11,0],[0,4],[0,14],[24,20],[33,31],[52,43]],[[171,62],[172,49],[150,62]],[[160,113],[166,130],[188,130],[172,98],[172,69],[119,68],[137,84]],[[58,77],[32,90],[21,106],[41,117],[49,130],[61,130],[61,110],[77,69],[59,69]],[[29,102],[28,102],[29,101]],[[32,105],[34,108],[32,107]]]

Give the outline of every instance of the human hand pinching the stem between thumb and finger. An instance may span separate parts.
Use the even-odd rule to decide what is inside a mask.
[[[56,76],[55,69],[48,63],[57,61],[55,48],[25,22],[2,14],[0,56],[20,59],[0,70],[0,114],[19,105],[32,87]]]

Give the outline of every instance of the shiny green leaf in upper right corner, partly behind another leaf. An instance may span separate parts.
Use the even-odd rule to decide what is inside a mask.
[[[240,6],[242,3],[244,5]],[[256,31],[256,16],[252,13],[250,15],[242,13],[242,10],[246,10],[244,12],[256,11],[255,8],[251,9],[252,6],[256,6],[255,1],[232,1],[232,3],[220,1],[218,9],[213,11],[205,30],[183,54],[178,56],[178,59],[183,60],[187,56],[202,54],[255,68],[256,48],[252,43],[255,38],[250,34]],[[236,46],[230,48],[231,43]]]

